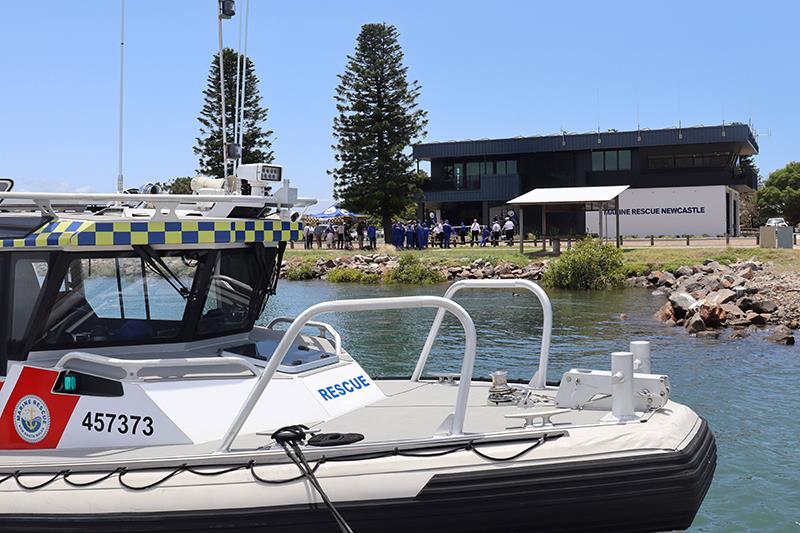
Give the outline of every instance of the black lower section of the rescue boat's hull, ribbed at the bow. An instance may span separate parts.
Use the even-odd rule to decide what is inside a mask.
[[[702,422],[679,451],[436,474],[413,498],[336,505],[356,532],[683,530],[691,525],[715,467],[714,437]],[[15,532],[336,530],[321,505],[80,515],[42,509],[36,515],[0,515],[0,531]]]

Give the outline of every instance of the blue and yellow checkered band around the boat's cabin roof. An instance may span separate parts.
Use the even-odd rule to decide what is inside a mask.
[[[44,225],[24,239],[4,239],[0,241],[0,248],[284,242],[298,241],[301,234],[300,222],[281,220],[59,220]]]

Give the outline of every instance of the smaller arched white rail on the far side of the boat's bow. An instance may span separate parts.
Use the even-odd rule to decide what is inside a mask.
[[[550,298],[539,285],[527,279],[465,279],[456,281],[444,293],[444,298],[452,299],[453,295],[461,289],[526,289],[536,295],[539,303],[542,305],[542,314],[544,315],[544,323],[542,324],[542,348],[539,353],[539,369],[533,374],[528,385],[534,389],[544,389],[547,384],[547,362],[550,358],[550,337],[553,332],[553,306],[550,303]],[[444,320],[444,311],[439,310],[436,313],[436,318],[433,319],[433,325],[428,333],[428,338],[425,340],[425,345],[422,347],[422,352],[419,354],[417,366],[414,373],[411,375],[412,381],[419,381],[422,376],[422,370],[425,368],[425,363],[428,361],[428,356],[433,348],[433,342],[439,334],[439,328],[442,326]]]

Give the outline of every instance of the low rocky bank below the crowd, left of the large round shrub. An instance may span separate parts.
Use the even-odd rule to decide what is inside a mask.
[[[281,277],[287,277],[287,272],[292,267],[297,267],[300,259],[285,260],[281,265]],[[325,276],[338,267],[349,267],[365,274],[378,274],[383,276],[388,270],[396,268],[400,258],[391,255],[352,255],[335,258],[320,258],[307,270],[306,279],[325,279]],[[448,264],[430,263],[428,268],[441,272],[442,277],[449,281],[460,279],[530,279],[539,280],[544,272],[544,263],[530,263],[519,267],[513,263],[500,261],[492,263],[484,259],[476,259],[469,264],[453,266]]]

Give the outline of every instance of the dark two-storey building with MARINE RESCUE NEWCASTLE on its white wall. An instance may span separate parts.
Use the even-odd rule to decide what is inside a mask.
[[[420,215],[481,223],[539,187],[629,185],[620,197],[623,235],[737,235],[739,193],[758,177],[740,158],[758,153],[746,124],[422,143],[430,162]],[[541,207],[525,207],[526,233],[541,229]],[[582,209],[547,213],[549,234],[596,233]]]

